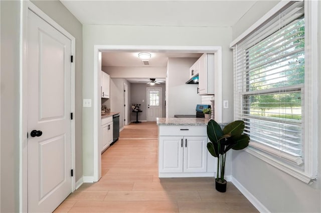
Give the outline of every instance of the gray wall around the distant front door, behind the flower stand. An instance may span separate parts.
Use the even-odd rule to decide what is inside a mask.
[[[131,103],[140,103],[140,109],[142,112],[138,113],[138,120],[147,120],[147,87],[160,87],[162,88],[162,117],[165,117],[166,109],[165,109],[165,83],[149,85],[146,83],[132,83],[131,84],[131,92],[130,99]],[[144,100],[144,102],[142,102]],[[130,104],[131,105],[131,104]],[[136,113],[130,112],[130,119],[132,121],[136,120]]]

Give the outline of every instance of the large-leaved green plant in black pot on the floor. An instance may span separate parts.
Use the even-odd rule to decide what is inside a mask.
[[[214,157],[217,157],[215,188],[220,192],[226,191],[227,182],[224,179],[226,152],[231,148],[243,149],[249,144],[250,137],[243,134],[244,127],[243,120],[235,120],[227,124],[223,130],[215,120],[211,119],[207,124],[207,135],[210,139],[207,149]]]

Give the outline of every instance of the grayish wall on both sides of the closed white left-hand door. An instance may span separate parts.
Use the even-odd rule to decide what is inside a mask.
[[[82,24],[59,0],[33,1],[76,37],[76,180],[82,176]],[[1,212],[19,212],[21,1],[1,0]],[[68,21],[66,21],[68,20]]]

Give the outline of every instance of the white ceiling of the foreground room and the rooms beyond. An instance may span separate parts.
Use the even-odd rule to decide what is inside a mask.
[[[60,0],[83,24],[147,26],[233,26],[256,0]],[[103,52],[102,66],[165,67],[169,57],[200,57],[202,53],[150,52],[149,65],[138,52]],[[148,78],[129,78],[129,82]],[[158,80],[158,79],[156,79]],[[159,79],[165,80],[165,79]]]

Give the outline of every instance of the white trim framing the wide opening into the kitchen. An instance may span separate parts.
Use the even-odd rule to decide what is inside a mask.
[[[217,68],[217,77],[215,78],[215,91],[217,94],[215,95],[215,99],[221,101],[215,101],[215,120],[217,122],[222,122],[222,46],[146,46],[146,45],[94,45],[94,71],[93,71],[93,79],[94,79],[94,98],[93,98],[93,146],[94,146],[94,153],[93,153],[93,169],[94,169],[94,176],[93,181],[98,181],[101,173],[101,167],[99,166],[101,162],[101,152],[99,150],[98,144],[101,141],[98,141],[98,134],[101,134],[101,128],[98,128],[98,120],[101,118],[101,106],[99,104],[100,99],[100,85],[98,85],[98,52],[99,51],[157,51],[157,52],[190,52],[190,53],[216,53],[215,59],[218,61],[215,68]],[[112,76],[111,76],[112,77]],[[166,95],[168,98],[168,95]],[[168,102],[168,100],[166,100]]]

